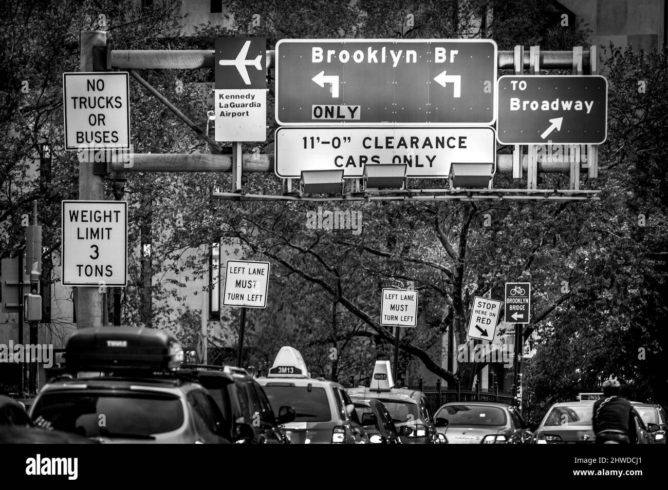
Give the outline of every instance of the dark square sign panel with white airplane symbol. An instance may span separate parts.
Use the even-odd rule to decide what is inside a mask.
[[[216,89],[266,89],[266,57],[264,37],[216,38]]]

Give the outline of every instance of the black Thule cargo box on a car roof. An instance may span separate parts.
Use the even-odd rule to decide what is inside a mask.
[[[98,327],[76,331],[67,340],[65,369],[77,371],[164,371],[183,361],[180,343],[158,329]]]

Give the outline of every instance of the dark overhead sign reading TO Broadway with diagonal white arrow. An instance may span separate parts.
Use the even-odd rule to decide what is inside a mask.
[[[599,75],[506,75],[498,105],[502,144],[599,145],[607,135],[608,82]]]

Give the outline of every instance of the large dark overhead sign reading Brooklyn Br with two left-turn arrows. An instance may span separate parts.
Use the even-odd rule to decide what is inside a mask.
[[[496,55],[490,39],[282,39],[276,120],[487,126]]]

